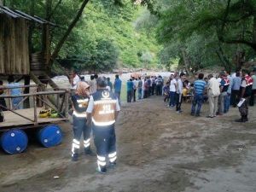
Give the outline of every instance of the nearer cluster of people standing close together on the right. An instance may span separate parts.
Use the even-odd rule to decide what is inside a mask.
[[[200,116],[201,106],[204,102],[209,103],[207,118],[228,113],[230,105],[238,107],[241,119],[237,122],[248,120],[248,105],[254,105],[256,94],[256,70],[248,72],[245,69],[236,73],[221,72],[218,76],[209,74],[204,77],[198,74],[194,83],[189,83],[184,73],[174,73],[166,81],[163,87],[164,102],[168,102],[168,108],[176,108],[177,113],[182,113],[183,101],[191,101],[191,115]]]

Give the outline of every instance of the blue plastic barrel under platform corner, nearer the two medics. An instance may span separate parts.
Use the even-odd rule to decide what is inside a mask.
[[[38,140],[45,147],[53,147],[61,143],[62,131],[59,125],[46,125],[38,131]]]

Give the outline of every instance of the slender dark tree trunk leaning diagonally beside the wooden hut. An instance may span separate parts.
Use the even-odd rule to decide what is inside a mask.
[[[59,41],[59,43],[56,45],[55,50],[53,52],[53,54],[50,57],[49,60],[49,68],[52,66],[53,62],[55,61],[55,58],[57,57],[57,55],[59,54],[62,45],[65,43],[65,41],[67,40],[68,35],[70,34],[70,32],[72,32],[73,27],[77,24],[77,22],[79,21],[80,16],[83,14],[84,8],[86,6],[86,4],[89,2],[89,0],[84,0],[84,2],[82,3],[78,14],[75,16],[75,18],[73,19],[72,23],[68,26],[67,28],[67,32],[65,32],[65,34],[63,35],[63,37],[61,38],[61,40]]]

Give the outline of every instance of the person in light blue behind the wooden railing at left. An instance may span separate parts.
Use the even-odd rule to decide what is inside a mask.
[[[12,87],[19,87],[20,84],[19,83],[15,83],[15,78],[13,75],[10,75],[9,78],[7,79],[8,81],[8,87],[12,88]],[[21,88],[14,88],[14,89],[10,89],[10,95],[11,96],[20,96],[22,94],[22,89]],[[12,98],[12,108],[13,109],[22,109],[22,103],[20,103],[22,101],[22,97],[15,97]]]

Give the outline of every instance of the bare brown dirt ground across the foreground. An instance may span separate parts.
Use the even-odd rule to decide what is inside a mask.
[[[23,154],[0,153],[0,191],[256,191],[256,110],[235,123],[237,108],[207,119],[166,108],[162,97],[125,104],[116,124],[118,166],[96,172],[96,157],[70,160],[72,126],[55,148],[30,143]],[[54,177],[59,178],[55,179]]]

